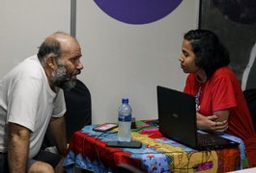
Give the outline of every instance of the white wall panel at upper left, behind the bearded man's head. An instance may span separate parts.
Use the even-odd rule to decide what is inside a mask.
[[[51,33],[70,33],[70,16],[69,0],[1,0],[0,77],[36,54]]]

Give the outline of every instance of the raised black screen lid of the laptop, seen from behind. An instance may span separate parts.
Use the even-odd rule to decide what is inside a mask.
[[[159,132],[188,146],[196,146],[194,97],[184,92],[157,86]]]

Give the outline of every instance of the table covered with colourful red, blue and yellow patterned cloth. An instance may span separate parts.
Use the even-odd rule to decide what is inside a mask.
[[[106,141],[117,140],[117,129],[100,133],[93,131],[96,125],[85,126],[71,137],[64,167],[67,172],[73,172],[74,166],[113,172],[116,165],[127,163],[143,172],[228,172],[247,166],[242,139],[236,136],[223,135],[240,142],[239,147],[197,151],[163,137],[151,122],[136,122],[131,133],[133,140],[142,142],[140,149],[106,147]]]

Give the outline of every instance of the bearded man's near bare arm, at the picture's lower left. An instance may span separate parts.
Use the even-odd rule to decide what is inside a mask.
[[[11,173],[26,172],[30,133],[30,130],[23,126],[9,123],[8,162]]]

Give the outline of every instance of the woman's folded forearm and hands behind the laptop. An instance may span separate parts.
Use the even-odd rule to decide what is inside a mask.
[[[216,115],[217,114],[217,115]],[[222,113],[221,113],[222,114]],[[197,112],[197,128],[214,134],[222,134],[228,128],[227,118],[223,118],[219,111],[213,115],[205,116]],[[220,118],[221,117],[221,118]],[[228,116],[227,116],[228,117]]]

